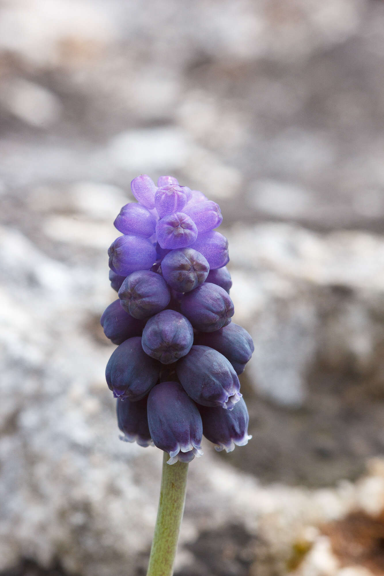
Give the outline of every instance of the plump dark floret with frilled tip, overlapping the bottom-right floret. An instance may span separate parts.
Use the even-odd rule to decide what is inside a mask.
[[[208,346],[192,346],[176,363],[176,373],[186,393],[202,406],[232,410],[242,397],[231,363]]]

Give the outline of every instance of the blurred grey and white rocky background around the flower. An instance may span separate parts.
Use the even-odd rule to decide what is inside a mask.
[[[140,173],[220,203],[255,340],[176,574],[384,574],[383,61],[380,0],[0,1],[2,574],[145,574],[161,455],[99,325]]]

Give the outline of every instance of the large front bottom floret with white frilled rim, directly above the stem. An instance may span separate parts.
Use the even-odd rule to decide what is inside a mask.
[[[153,443],[170,454],[168,464],[201,456],[202,423],[194,402],[178,382],[161,382],[148,396],[148,425]]]

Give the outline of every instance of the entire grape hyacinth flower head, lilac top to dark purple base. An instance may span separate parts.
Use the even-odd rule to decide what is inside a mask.
[[[155,444],[169,464],[247,444],[248,412],[238,375],[254,347],[231,323],[234,305],[220,207],[172,176],[131,182],[110,256],[118,300],[101,316],[118,348],[107,364],[122,439]]]

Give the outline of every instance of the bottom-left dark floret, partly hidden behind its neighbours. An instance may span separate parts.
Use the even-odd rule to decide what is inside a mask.
[[[146,414],[146,397],[137,402],[129,400],[116,401],[116,415],[119,429],[123,432],[120,439],[125,442],[137,442],[139,446],[153,445],[148,428]]]

